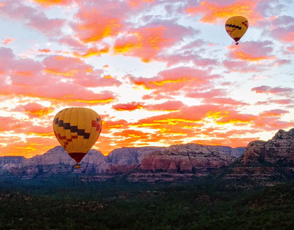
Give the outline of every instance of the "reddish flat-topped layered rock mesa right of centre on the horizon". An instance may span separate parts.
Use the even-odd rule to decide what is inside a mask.
[[[194,173],[199,176],[207,174],[210,168],[219,168],[231,164],[242,149],[224,146],[207,146],[199,144],[172,145],[154,151],[141,162],[142,170],[153,172],[164,170],[171,173]],[[240,155],[239,155],[240,156]]]

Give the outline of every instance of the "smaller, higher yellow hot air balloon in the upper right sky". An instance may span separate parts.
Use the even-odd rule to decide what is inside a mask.
[[[238,41],[248,29],[248,20],[242,16],[230,17],[226,21],[225,28],[228,35],[230,35],[231,38],[236,41],[236,45],[238,45]]]

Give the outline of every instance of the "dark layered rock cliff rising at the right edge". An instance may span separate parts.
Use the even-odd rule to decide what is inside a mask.
[[[244,155],[230,166],[226,179],[266,179],[294,173],[294,128],[279,130],[268,141],[252,141]]]

